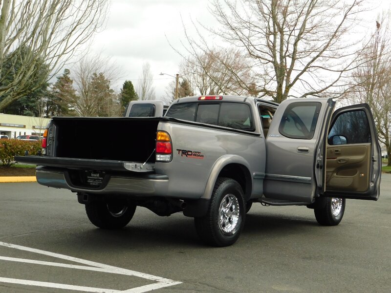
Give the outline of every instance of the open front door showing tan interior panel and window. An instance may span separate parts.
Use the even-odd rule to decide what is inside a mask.
[[[325,196],[379,198],[381,151],[369,105],[348,106],[333,113],[325,157]]]

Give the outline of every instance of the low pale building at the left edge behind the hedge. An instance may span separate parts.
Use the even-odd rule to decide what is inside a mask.
[[[0,113],[0,135],[15,138],[19,135],[42,135],[49,118]]]

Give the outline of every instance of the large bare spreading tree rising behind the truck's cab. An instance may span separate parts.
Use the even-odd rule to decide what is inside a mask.
[[[363,0],[214,0],[211,13],[220,27],[207,28],[251,59],[257,83],[235,76],[251,93],[275,102],[288,97],[341,95],[339,86],[361,56],[348,32]],[[200,33],[200,26],[195,25]],[[211,51],[208,39],[186,30],[187,48]],[[224,62],[222,62],[224,64]],[[226,65],[230,69],[229,65]]]

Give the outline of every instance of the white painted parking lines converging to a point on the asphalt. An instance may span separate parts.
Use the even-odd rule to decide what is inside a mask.
[[[145,286],[130,288],[125,291],[0,277],[0,282],[3,282],[3,283],[13,283],[13,284],[22,284],[22,285],[39,286],[39,287],[67,289],[67,290],[78,290],[78,291],[93,292],[93,293],[119,293],[119,292],[121,292],[121,293],[143,293],[143,292],[149,292],[152,290],[156,290],[156,289],[160,289],[160,288],[164,288],[164,287],[169,287],[169,286],[174,286],[174,285],[182,283],[182,282],[177,282],[174,280],[162,278],[159,276],[154,276],[151,274],[146,274],[146,273],[142,273],[142,272],[136,272],[136,271],[131,271],[131,270],[127,270],[127,269],[117,268],[117,267],[113,267],[113,266],[109,266],[109,265],[105,265],[105,264],[101,264],[101,263],[97,263],[97,262],[93,262],[93,261],[89,261],[89,260],[85,260],[85,259],[81,259],[81,258],[76,258],[76,257],[64,255],[64,254],[54,253],[54,252],[50,252],[50,251],[43,251],[43,250],[39,250],[39,249],[29,248],[29,247],[5,243],[5,242],[0,242],[0,246],[14,248],[14,249],[22,250],[22,251],[39,253],[39,254],[43,254],[43,255],[47,255],[47,256],[52,256],[52,257],[56,257],[56,258],[60,258],[60,259],[65,259],[68,261],[81,263],[81,264],[84,264],[87,266],[70,265],[70,264],[64,264],[64,263],[47,262],[47,261],[39,261],[39,260],[24,259],[24,258],[6,257],[6,256],[0,256],[0,260],[22,262],[22,263],[31,263],[31,264],[45,265],[45,266],[63,267],[63,268],[86,270],[86,271],[115,273],[115,274],[135,276],[135,277],[144,278],[147,280],[157,282],[157,283],[153,283],[153,284],[149,284],[149,285],[145,285]]]

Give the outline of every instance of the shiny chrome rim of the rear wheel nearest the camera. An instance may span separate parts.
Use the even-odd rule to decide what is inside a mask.
[[[227,194],[218,209],[218,226],[224,233],[235,233],[239,222],[239,201],[233,194]]]

